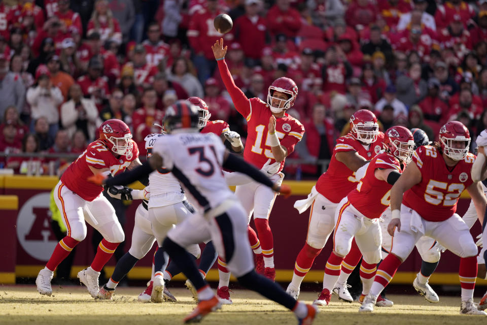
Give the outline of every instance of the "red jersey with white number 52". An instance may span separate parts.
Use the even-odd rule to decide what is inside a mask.
[[[422,146],[412,154],[421,172],[421,182],[408,189],[402,204],[428,221],[444,221],[457,211],[463,190],[473,181],[470,177],[475,155],[468,153],[449,171],[443,155],[433,146]]]

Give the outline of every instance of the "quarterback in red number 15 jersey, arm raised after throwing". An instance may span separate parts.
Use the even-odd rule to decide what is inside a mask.
[[[224,56],[227,47],[223,48],[223,39],[213,45],[213,54],[218,62],[218,69],[223,83],[229,92],[236,110],[247,119],[248,145],[243,150],[243,157],[257,168],[262,168],[268,159],[281,163],[279,172],[270,178],[282,183],[286,157],[294,151],[294,146],[304,134],[304,126],[295,118],[286,114],[286,110],[293,106],[298,87],[289,78],[276,79],[269,87],[267,103],[258,98],[248,99],[235,86],[228,71]],[[275,195],[264,186],[256,182],[239,185],[235,190],[243,207],[249,214],[249,221],[254,213],[254,222],[259,233],[259,239],[264,255],[265,275],[274,280],[274,249],[272,232],[269,227],[269,215],[275,200]],[[251,246],[257,241],[251,241]]]

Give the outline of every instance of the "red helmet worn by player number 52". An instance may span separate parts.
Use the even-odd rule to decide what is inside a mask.
[[[453,160],[462,160],[470,148],[468,129],[459,121],[450,121],[440,129],[440,144],[443,153]]]

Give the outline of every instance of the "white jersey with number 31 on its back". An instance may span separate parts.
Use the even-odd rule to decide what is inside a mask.
[[[225,150],[220,137],[212,133],[165,135],[152,148],[205,212],[233,198],[221,170]]]

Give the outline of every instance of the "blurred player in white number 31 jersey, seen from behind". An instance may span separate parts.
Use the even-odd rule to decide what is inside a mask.
[[[276,192],[289,195],[290,188],[273,183],[255,167],[229,154],[215,135],[199,134],[198,110],[187,101],[179,101],[166,110],[164,128],[169,135],[158,139],[147,163],[104,182],[108,185],[128,184],[164,167],[180,180],[198,202],[197,213],[171,230],[162,247],[198,291],[199,303],[184,321],[199,321],[204,315],[221,308],[193,258],[184,249],[211,238],[218,254],[225,258],[228,269],[241,285],[293,310],[299,324],[311,324],[317,314],[316,307],[296,302],[279,285],[255,272],[247,236],[246,213],[229,190],[221,168],[245,173]],[[104,177],[99,174],[93,177],[96,178],[99,181]]]

